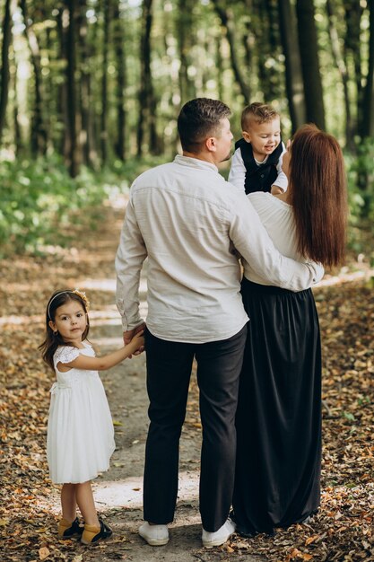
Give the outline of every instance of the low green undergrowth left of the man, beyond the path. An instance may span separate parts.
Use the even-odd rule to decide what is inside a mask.
[[[134,159],[99,172],[82,168],[73,180],[56,156],[2,162],[0,255],[43,254],[64,246],[83,221],[94,230],[103,201],[126,192],[136,175],[155,163]]]

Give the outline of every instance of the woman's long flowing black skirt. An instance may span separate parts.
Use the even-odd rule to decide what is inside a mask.
[[[321,351],[311,290],[243,279],[248,340],[240,375],[233,516],[248,536],[317,511]]]

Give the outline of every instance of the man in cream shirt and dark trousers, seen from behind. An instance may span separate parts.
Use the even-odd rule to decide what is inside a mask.
[[[178,117],[183,155],[139,176],[117,251],[117,307],[125,342],[144,321],[139,278],[148,257],[145,329],[150,426],[144,467],[144,524],[152,546],[169,540],[178,493],[178,447],[194,357],[203,426],[200,514],[205,547],[235,531],[230,512],[235,411],[248,317],[239,293],[238,253],[274,285],[309,287],[323,271],[274,249],[245,196],[219,174],[230,158],[230,109],[188,101]],[[236,251],[237,250],[237,251]]]

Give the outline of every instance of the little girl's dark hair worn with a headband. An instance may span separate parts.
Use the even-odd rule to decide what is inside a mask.
[[[55,365],[53,364],[53,356],[57,350],[58,346],[70,346],[71,344],[64,341],[60,334],[54,333],[53,329],[49,326],[49,321],[55,321],[56,311],[59,306],[67,303],[68,301],[76,301],[82,304],[83,311],[87,313],[87,306],[84,302],[82,296],[74,293],[73,291],[56,291],[51,295],[46,310],[46,339],[40,344],[39,349],[41,351],[41,356],[43,360],[50,366],[52,371],[55,371]],[[87,338],[90,329],[90,321],[87,315],[87,327],[83,332],[82,339]]]

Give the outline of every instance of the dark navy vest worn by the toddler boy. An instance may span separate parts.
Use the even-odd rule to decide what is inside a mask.
[[[246,180],[244,184],[246,194],[253,193],[254,191],[270,191],[278,176],[276,166],[283,153],[282,140],[275,148],[274,153],[269,154],[266,162],[260,165],[256,163],[253,157],[252,145],[247,143],[244,138],[240,138],[235,143],[235,149],[237,150],[238,148],[246,166]]]

